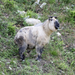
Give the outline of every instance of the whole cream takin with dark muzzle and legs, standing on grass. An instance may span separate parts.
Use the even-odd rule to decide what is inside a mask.
[[[58,28],[57,17],[49,17],[43,23],[21,28],[14,38],[14,42],[19,46],[20,59],[25,59],[25,50],[29,53],[31,49],[35,48],[36,60],[40,60],[44,46],[49,43],[50,35],[52,32],[57,31]]]

